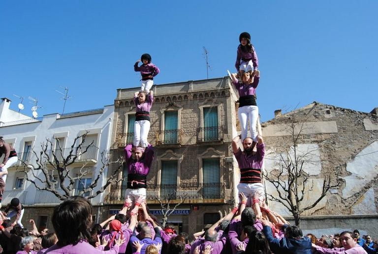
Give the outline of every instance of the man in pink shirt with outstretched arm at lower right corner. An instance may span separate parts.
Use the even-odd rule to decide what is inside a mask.
[[[343,248],[328,249],[313,244],[313,249],[322,254],[367,254],[364,248],[357,244],[354,233],[344,231],[340,234],[340,240]]]

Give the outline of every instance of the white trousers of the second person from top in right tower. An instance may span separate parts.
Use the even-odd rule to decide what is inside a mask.
[[[242,142],[247,138],[248,134],[248,121],[250,122],[250,132],[251,138],[254,142],[257,142],[257,117],[258,117],[258,107],[257,106],[244,106],[238,109],[240,127],[242,129]]]

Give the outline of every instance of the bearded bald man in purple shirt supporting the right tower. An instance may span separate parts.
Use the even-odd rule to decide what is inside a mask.
[[[265,155],[265,144],[260,135],[256,137],[257,143],[247,137],[243,140],[242,151],[239,147],[240,136],[232,140],[232,150],[240,169],[239,195],[243,192],[247,198],[247,207],[251,206],[251,200],[257,197],[264,199],[264,185],[261,182],[261,167]]]

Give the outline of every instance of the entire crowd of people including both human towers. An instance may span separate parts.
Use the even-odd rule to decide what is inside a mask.
[[[265,202],[261,167],[265,155],[263,137],[258,135],[256,88],[260,79],[258,60],[251,36],[239,36],[237,73],[230,78],[239,93],[238,116],[241,135],[232,140],[232,151],[240,169],[237,185],[239,204],[219,221],[189,236],[177,232],[174,225],[161,225],[149,213],[146,203],[147,176],[154,160],[148,143],[150,109],[154,101],[153,78],[160,72],[143,54],[134,65],[142,85],[135,92],[134,140],[125,147],[127,169],[126,200],[123,208],[100,224],[92,221],[93,207],[82,196],[73,196],[55,207],[54,230],[38,232],[34,220],[31,229],[23,227],[24,207],[17,198],[0,213],[0,253],[5,254],[378,254],[378,242],[359,231],[331,232],[333,235],[303,235],[302,230],[270,210]],[[139,66],[139,63],[142,65]],[[239,80],[240,79],[240,80]],[[250,132],[248,132],[248,127]],[[248,136],[250,133],[250,136]],[[17,153],[0,137],[0,203],[5,188],[7,167]],[[16,216],[12,222],[12,216]]]

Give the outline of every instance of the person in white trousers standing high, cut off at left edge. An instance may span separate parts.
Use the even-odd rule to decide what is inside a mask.
[[[0,163],[0,208],[2,195],[5,191],[6,176],[8,175],[8,168],[17,163],[17,152],[9,144],[7,144],[2,137],[0,137],[0,157],[4,155]]]

